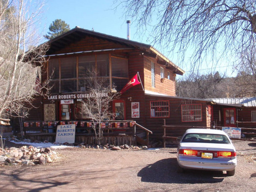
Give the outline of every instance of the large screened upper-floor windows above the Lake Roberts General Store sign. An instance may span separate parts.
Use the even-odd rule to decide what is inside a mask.
[[[51,93],[88,91],[88,88],[94,84],[89,78],[92,76],[92,72],[96,72],[97,79],[109,86],[109,54],[50,59],[48,75],[52,79],[49,83],[49,86],[52,87]]]

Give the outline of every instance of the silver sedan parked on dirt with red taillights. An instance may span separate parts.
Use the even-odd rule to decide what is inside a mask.
[[[221,130],[188,129],[177,148],[178,172],[184,169],[226,171],[234,175],[237,154],[227,134]]]

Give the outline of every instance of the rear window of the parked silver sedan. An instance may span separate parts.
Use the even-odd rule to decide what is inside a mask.
[[[225,135],[216,134],[187,134],[182,142],[230,143]]]

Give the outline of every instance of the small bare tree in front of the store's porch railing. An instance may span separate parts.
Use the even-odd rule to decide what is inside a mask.
[[[111,102],[119,97],[119,93],[113,92],[114,86],[110,86],[108,80],[97,77],[95,70],[90,71],[89,76],[85,78],[87,82],[87,98],[82,101],[82,113],[92,120],[92,127],[95,138],[100,144],[103,133],[101,132],[101,123],[110,119],[114,114],[110,111]]]

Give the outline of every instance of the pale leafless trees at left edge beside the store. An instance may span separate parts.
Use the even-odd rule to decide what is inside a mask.
[[[48,48],[47,44],[36,47],[40,38],[35,27],[42,5],[40,1],[0,0],[0,118],[6,122],[10,115],[27,115],[20,111],[28,111],[32,100],[45,94],[42,89],[49,82],[35,87]]]

